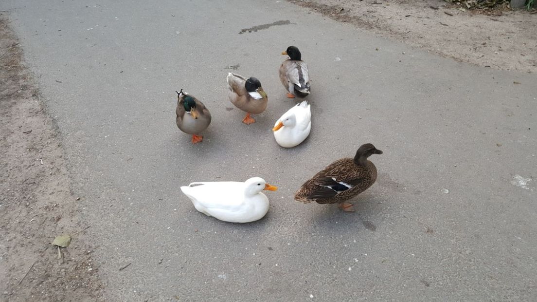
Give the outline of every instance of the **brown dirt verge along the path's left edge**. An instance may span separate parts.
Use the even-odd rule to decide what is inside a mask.
[[[77,219],[62,146],[0,13],[0,301],[98,301],[101,283]],[[71,245],[51,242],[70,234]]]

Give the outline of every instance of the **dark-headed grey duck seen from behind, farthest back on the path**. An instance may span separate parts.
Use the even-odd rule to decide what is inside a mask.
[[[307,97],[309,95],[308,65],[301,60],[302,55],[295,46],[287,47],[282,55],[288,55],[289,59],[281,63],[280,81],[288,92],[288,98]]]

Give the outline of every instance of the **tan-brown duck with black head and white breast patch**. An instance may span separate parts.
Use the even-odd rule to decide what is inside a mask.
[[[246,112],[242,122],[246,125],[256,123],[250,114],[259,114],[265,111],[269,98],[255,77],[246,79],[241,75],[229,73],[228,77],[229,100],[238,109]]]

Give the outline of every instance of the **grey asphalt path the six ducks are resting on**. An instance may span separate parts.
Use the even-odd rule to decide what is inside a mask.
[[[109,300],[537,299],[535,75],[467,66],[285,1],[0,9],[59,127]],[[289,45],[309,63],[313,118],[309,138],[282,149],[271,127],[295,102],[277,74]],[[232,66],[269,95],[256,124],[227,98]],[[213,116],[195,146],[175,125],[182,88]],[[293,201],[365,142],[384,154],[357,212]],[[251,176],[279,186],[251,224],[206,217],[179,190]]]

